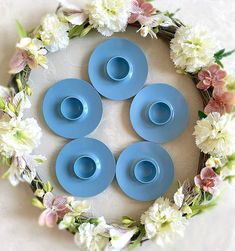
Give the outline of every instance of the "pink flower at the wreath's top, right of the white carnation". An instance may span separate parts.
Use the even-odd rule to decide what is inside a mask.
[[[140,21],[141,23],[141,20],[145,20],[146,17],[150,17],[154,11],[155,8],[151,3],[147,3],[144,0],[134,0],[128,23],[132,24],[136,21]]]

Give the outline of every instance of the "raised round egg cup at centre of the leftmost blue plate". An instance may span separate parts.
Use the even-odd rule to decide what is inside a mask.
[[[69,96],[61,102],[60,111],[64,118],[77,120],[87,114],[88,107],[86,102],[81,98]]]

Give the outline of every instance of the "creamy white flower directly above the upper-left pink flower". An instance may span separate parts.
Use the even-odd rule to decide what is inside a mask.
[[[40,65],[47,69],[47,50],[44,49],[42,41],[37,38],[21,38],[20,42],[16,45],[17,48],[24,50],[28,53],[29,58],[33,61],[32,64]]]

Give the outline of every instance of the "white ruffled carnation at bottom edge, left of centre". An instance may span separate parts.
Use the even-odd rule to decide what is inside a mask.
[[[105,237],[106,222],[103,217],[97,219],[98,224],[83,223],[74,236],[74,241],[80,250],[102,251],[108,244]]]

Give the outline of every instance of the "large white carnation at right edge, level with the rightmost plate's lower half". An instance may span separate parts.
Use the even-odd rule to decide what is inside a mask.
[[[225,157],[235,152],[234,114],[210,113],[197,121],[194,135],[196,144],[203,153],[213,157]]]

